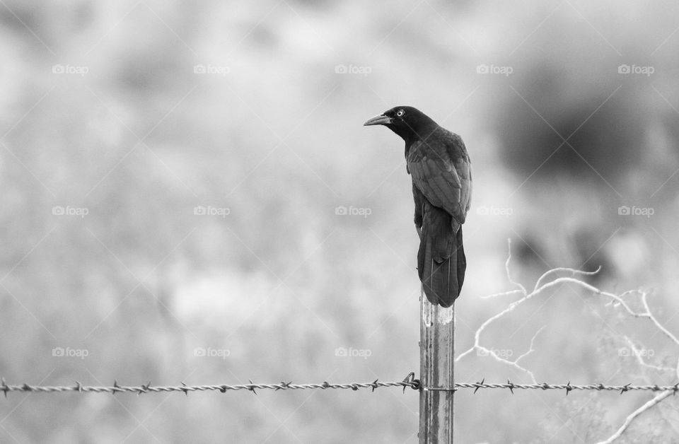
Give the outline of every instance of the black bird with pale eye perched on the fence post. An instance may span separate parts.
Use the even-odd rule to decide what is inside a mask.
[[[462,243],[472,196],[467,148],[458,134],[410,106],[393,107],[366,125],[384,125],[405,141],[419,235],[419,280],[429,302],[450,307],[460,296],[467,269]]]

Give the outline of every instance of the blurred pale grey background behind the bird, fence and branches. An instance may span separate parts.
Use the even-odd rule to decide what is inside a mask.
[[[419,373],[413,105],[474,168],[458,353],[553,267],[679,303],[679,4],[0,1],[0,375],[41,385]],[[639,308],[635,295],[629,303]],[[646,320],[560,286],[482,344],[539,382],[673,384]],[[540,330],[541,329],[541,330]],[[627,341],[629,338],[629,341]],[[472,353],[460,382],[531,382]],[[648,393],[460,390],[460,443],[589,443]],[[673,398],[620,442],[679,434]],[[2,443],[417,443],[417,392],[26,395]]]

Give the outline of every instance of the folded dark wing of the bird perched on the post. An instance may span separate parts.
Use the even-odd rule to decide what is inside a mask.
[[[432,205],[465,223],[472,192],[471,165],[457,134],[443,130],[415,141],[407,158],[413,184]]]

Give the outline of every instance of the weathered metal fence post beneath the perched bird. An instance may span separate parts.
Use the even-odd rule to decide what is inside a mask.
[[[419,443],[452,443],[454,392],[422,387],[454,387],[455,305],[431,305],[422,293],[419,322]]]

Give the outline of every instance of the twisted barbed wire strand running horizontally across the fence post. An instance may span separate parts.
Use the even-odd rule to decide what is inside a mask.
[[[313,389],[344,389],[344,390],[359,390],[370,388],[374,392],[375,389],[379,387],[402,387],[403,392],[407,387],[413,390],[431,390],[431,391],[441,391],[441,392],[455,392],[459,389],[474,389],[474,393],[479,389],[509,389],[513,394],[514,389],[519,390],[566,390],[566,395],[571,392],[571,390],[610,390],[620,392],[622,395],[625,392],[631,390],[649,390],[652,392],[673,392],[672,395],[676,395],[679,392],[679,382],[675,385],[632,385],[631,383],[626,385],[605,385],[605,384],[588,384],[588,385],[573,385],[569,381],[567,384],[548,384],[547,382],[542,382],[541,384],[515,384],[509,380],[506,383],[492,384],[481,380],[480,382],[459,382],[455,383],[455,387],[422,387],[420,380],[414,378],[415,373],[411,372],[401,381],[393,382],[383,382],[380,380],[374,380],[373,382],[349,382],[344,384],[336,384],[324,381],[320,384],[293,384],[290,382],[279,382],[277,384],[257,384],[250,381],[249,384],[237,384],[237,385],[186,385],[182,382],[182,385],[170,385],[170,386],[155,386],[148,382],[144,385],[130,386],[130,385],[119,385],[117,381],[113,382],[111,386],[95,386],[95,385],[82,385],[80,382],[76,381],[75,385],[8,385],[6,384],[4,378],[1,380],[0,392],[4,392],[5,397],[7,397],[8,392],[32,392],[32,393],[59,393],[59,392],[93,392],[93,393],[111,393],[115,395],[116,393],[137,393],[137,395],[143,395],[144,393],[160,393],[160,392],[183,392],[188,395],[189,392],[207,392],[207,391],[217,391],[226,393],[228,390],[248,390],[257,395],[257,390],[313,390]]]

